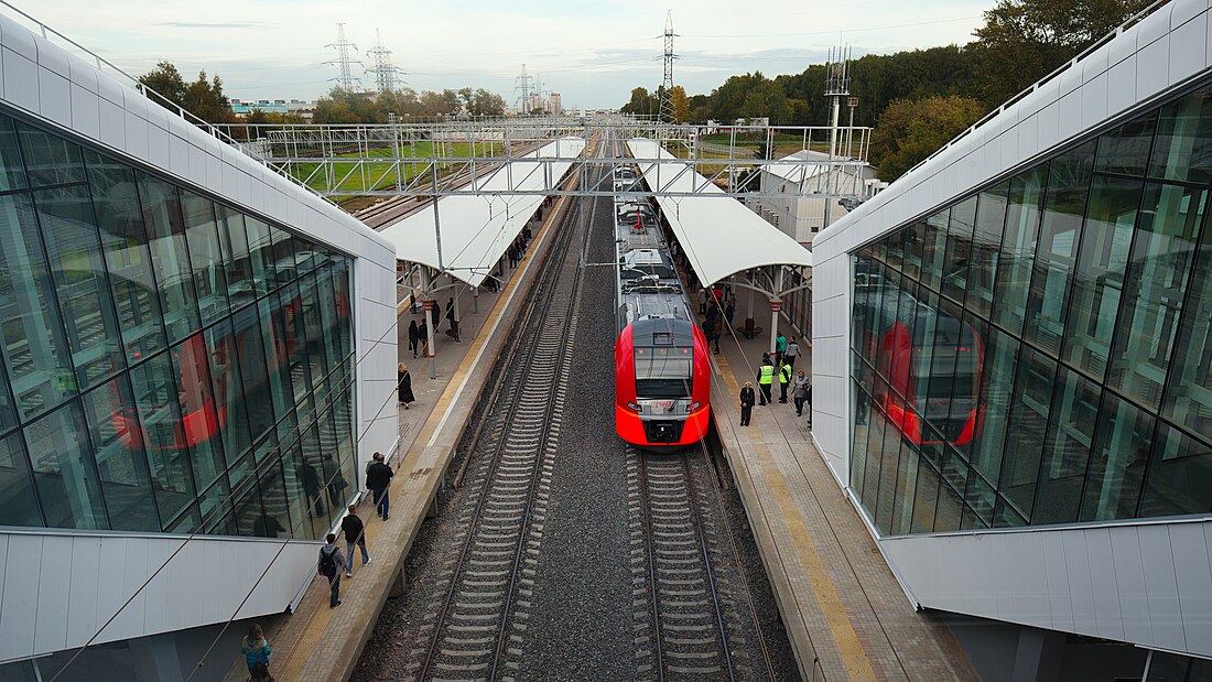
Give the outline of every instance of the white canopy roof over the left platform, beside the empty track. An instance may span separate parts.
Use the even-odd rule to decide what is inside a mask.
[[[528,157],[561,159],[560,161],[513,161],[502,166],[465,196],[444,196],[438,201],[438,223],[441,229],[442,258],[438,262],[438,230],[434,228],[433,207],[413,213],[379,233],[395,246],[398,260],[422,263],[442,269],[471,286],[480,286],[488,269],[504,256],[509,245],[522,230],[543,196],[537,194],[497,196],[488,191],[534,191],[555,189],[564,173],[585,148],[579,137],[565,137],[545,144]]]

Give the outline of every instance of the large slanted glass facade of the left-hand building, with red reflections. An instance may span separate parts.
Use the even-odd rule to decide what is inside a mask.
[[[0,115],[0,525],[319,538],[353,260]]]

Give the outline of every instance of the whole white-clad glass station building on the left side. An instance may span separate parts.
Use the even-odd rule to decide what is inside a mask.
[[[6,17],[0,73],[0,677],[182,680],[236,621],[216,678],[399,437],[394,250]]]

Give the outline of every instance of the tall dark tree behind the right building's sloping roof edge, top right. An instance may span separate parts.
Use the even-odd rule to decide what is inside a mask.
[[[991,109],[1103,38],[1151,0],[1000,0],[972,51]]]

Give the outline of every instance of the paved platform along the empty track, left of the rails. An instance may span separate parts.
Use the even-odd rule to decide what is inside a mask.
[[[389,464],[395,470],[390,491],[390,517],[379,521],[370,495],[359,504],[366,523],[371,563],[354,561],[353,578],[341,579],[342,604],[328,608],[328,584],[314,578],[292,613],[263,621],[274,649],[270,670],[279,682],[298,680],[348,680],[387,598],[404,585],[404,563],[422,522],[431,515],[439,487],[454,457],[454,447],[485,388],[509,329],[524,306],[526,292],[538,274],[538,264],[551,241],[553,224],[564,214],[565,200],[544,213],[526,257],[509,274],[497,293],[480,293],[479,313],[464,293],[459,306],[462,343],[445,333],[438,339],[436,378],[430,379],[425,357],[411,359],[407,350],[410,313],[399,310],[400,361],[408,366],[417,402],[398,407],[400,445]],[[417,316],[419,320],[419,315]],[[445,329],[445,321],[442,329]],[[345,551],[344,537],[338,546]],[[358,550],[354,550],[355,554]],[[244,657],[227,672],[228,682],[248,678]]]

